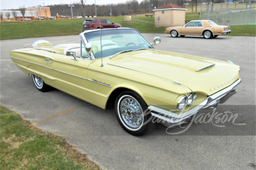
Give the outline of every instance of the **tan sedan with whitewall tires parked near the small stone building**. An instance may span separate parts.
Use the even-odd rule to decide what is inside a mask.
[[[212,20],[192,20],[183,26],[166,28],[166,34],[170,34],[172,37],[199,35],[204,36],[205,39],[210,39],[228,33],[231,33],[229,26],[218,25]]]

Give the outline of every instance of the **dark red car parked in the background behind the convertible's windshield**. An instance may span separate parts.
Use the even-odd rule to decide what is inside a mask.
[[[88,29],[98,29],[100,28],[100,23],[101,23],[101,29],[121,27],[121,24],[115,24],[109,19],[93,18],[93,19],[85,19],[84,23],[82,23],[82,31],[85,31]]]

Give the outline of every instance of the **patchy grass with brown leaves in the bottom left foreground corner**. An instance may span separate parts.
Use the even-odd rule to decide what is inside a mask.
[[[63,137],[44,133],[0,108],[0,169],[100,169]]]

